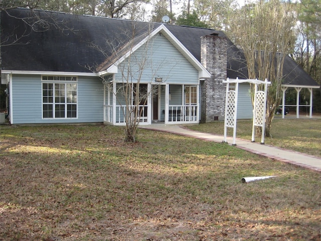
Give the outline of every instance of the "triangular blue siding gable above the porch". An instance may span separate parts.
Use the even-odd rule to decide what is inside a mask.
[[[156,35],[148,42],[148,46],[141,46],[131,56],[130,60],[132,82],[137,81],[137,73],[143,61],[146,63],[141,68],[143,75],[140,82],[154,82],[155,77],[163,78],[165,83],[198,84],[198,70],[168,41],[163,35]],[[118,66],[116,81],[126,82],[122,73],[126,76],[126,60]]]

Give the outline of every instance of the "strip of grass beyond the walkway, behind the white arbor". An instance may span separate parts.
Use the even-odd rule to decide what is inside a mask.
[[[213,133],[224,134],[224,122],[213,122],[189,126],[190,129]],[[231,128],[228,128],[228,135],[233,136]],[[252,121],[237,122],[237,138],[251,140]],[[275,118],[272,123],[271,137],[265,138],[266,145],[281,147],[288,150],[306,153],[321,157],[321,118],[317,119],[294,119],[294,118]],[[256,137],[261,141],[261,137]]]

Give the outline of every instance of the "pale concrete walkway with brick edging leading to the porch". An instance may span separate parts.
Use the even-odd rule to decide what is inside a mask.
[[[151,126],[140,127],[140,128],[153,130],[153,131],[174,133],[178,135],[194,137],[200,140],[211,141],[211,142],[221,143],[224,140],[223,136],[192,131],[186,127],[181,127],[181,126],[153,124]],[[232,144],[232,141],[233,141],[232,137],[227,138],[227,142],[229,145]],[[289,164],[293,164],[296,166],[309,169],[314,172],[321,173],[321,158],[319,157],[309,156],[303,153],[289,151],[289,150],[276,148],[268,145],[261,145],[260,143],[252,143],[251,141],[246,141],[242,139],[236,139],[236,148],[240,148],[264,157],[271,158],[273,160],[286,162]]]

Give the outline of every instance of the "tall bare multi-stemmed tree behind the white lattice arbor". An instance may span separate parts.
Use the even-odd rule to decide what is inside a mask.
[[[295,23],[293,5],[279,0],[259,0],[230,17],[230,33],[243,49],[249,78],[271,81],[267,93],[266,136],[270,136],[275,109],[281,100],[283,63],[293,49]]]

